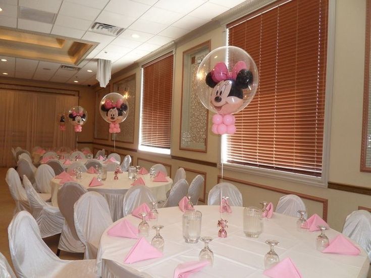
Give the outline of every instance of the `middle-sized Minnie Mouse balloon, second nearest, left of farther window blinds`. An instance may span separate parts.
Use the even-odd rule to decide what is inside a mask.
[[[119,133],[119,124],[128,117],[129,105],[123,95],[109,93],[100,101],[99,112],[104,121],[110,123],[110,133]]]

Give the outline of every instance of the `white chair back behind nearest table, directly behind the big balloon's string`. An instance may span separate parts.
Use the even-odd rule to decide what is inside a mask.
[[[228,203],[231,206],[243,206],[242,194],[236,186],[231,183],[219,183],[211,188],[207,197],[208,205],[220,205],[220,197],[229,197]]]

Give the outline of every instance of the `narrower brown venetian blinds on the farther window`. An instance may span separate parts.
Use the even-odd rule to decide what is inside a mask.
[[[173,54],[143,66],[141,145],[170,149]]]

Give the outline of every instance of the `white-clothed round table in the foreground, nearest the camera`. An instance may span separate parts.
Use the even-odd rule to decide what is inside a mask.
[[[275,251],[280,260],[290,257],[302,277],[366,277],[369,267],[368,256],[361,249],[358,256],[326,254],[315,249],[316,232],[301,233],[296,230],[297,218],[284,214],[274,213],[271,219],[263,219],[263,233],[258,238],[247,238],[243,233],[243,207],[232,207],[231,214],[223,214],[227,218],[228,237],[218,238],[217,223],[221,214],[219,206],[199,205],[195,208],[202,212],[201,236],[214,238],[209,247],[214,252],[214,265],[206,266],[201,271],[192,274],[192,278],[206,277],[267,277],[263,275],[263,258],[269,251],[265,243],[268,239],[278,240],[279,246]],[[111,237],[104,231],[99,243],[96,271],[102,277],[111,274],[116,276],[136,273],[143,277],[173,277],[174,269],[179,263],[198,260],[198,254],[203,243],[185,243],[182,236],[182,215],[178,207],[158,209],[158,224],[164,225],[161,235],[165,239],[164,256],[161,258],[124,263],[124,258],[136,243],[136,239]],[[224,217],[227,215],[226,217]],[[128,215],[134,226],[138,226],[140,219]],[[119,220],[120,221],[120,220]],[[153,223],[149,222],[152,226]],[[155,232],[150,229],[146,238],[151,241]],[[339,232],[327,230],[329,239],[335,238]]]

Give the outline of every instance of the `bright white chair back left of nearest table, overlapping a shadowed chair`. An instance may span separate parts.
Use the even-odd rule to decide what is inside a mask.
[[[95,259],[99,240],[113,221],[104,197],[97,192],[87,192],[77,200],[73,209],[77,236],[85,245],[84,259]]]

